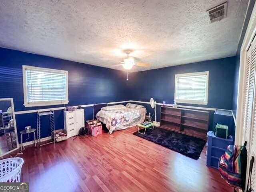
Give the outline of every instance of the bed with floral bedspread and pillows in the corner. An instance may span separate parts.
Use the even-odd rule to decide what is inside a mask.
[[[96,118],[106,124],[109,133],[123,130],[144,122],[146,108],[131,108],[124,105],[114,105],[101,108],[96,114]]]

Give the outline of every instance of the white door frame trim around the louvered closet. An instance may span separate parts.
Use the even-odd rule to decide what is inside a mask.
[[[247,8],[248,9],[248,8]],[[239,83],[238,83],[238,98],[237,98],[237,110],[236,110],[236,136],[235,144],[243,145],[243,119],[244,119],[244,76],[246,72],[246,51],[250,47],[250,44],[256,34],[256,6],[252,10],[250,21],[248,23],[244,40],[240,51],[240,68],[239,68]]]

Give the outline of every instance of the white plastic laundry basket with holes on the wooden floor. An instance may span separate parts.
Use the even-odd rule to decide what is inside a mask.
[[[0,182],[20,182],[23,163],[20,157],[0,160]]]

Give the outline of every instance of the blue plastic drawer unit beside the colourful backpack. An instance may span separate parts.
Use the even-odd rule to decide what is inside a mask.
[[[218,169],[220,157],[225,153],[227,146],[232,144],[232,136],[229,136],[228,139],[219,138],[214,135],[214,132],[208,131],[206,165]]]

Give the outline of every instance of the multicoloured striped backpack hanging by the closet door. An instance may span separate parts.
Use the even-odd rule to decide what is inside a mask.
[[[228,184],[235,188],[245,189],[247,150],[244,146],[229,145],[219,160],[220,175]],[[235,190],[234,190],[235,191]]]

